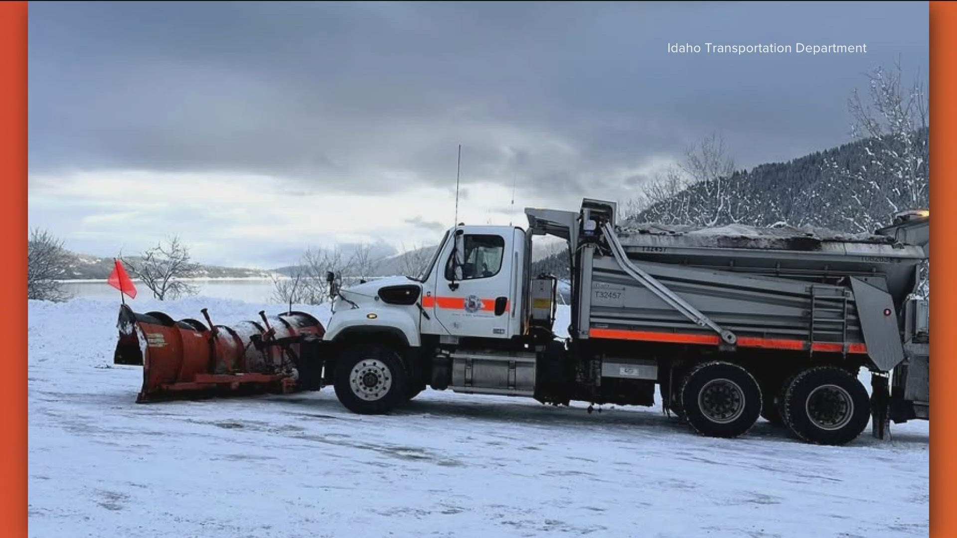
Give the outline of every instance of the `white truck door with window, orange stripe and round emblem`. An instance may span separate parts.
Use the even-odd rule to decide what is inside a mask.
[[[461,270],[453,263],[455,240],[449,240],[441,265],[436,267],[435,289],[426,303],[434,306],[435,320],[454,336],[508,338],[512,300],[513,234],[501,228],[466,229],[459,242]],[[444,332],[444,331],[443,331]]]

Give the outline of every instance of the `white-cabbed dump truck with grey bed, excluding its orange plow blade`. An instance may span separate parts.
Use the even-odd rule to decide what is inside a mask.
[[[737,437],[764,416],[835,445],[872,415],[878,437],[929,418],[928,308],[914,298],[926,212],[867,235],[626,224],[591,199],[525,214],[524,230],[452,228],[421,275],[345,289],[328,275],[317,356],[346,408],[388,413],[427,387],[556,405],[652,406],[657,391],[703,435]],[[530,273],[536,235],[568,242],[566,339],[557,279]]]

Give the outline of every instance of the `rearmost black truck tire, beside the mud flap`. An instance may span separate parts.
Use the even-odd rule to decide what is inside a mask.
[[[871,416],[867,390],[849,371],[814,367],[794,376],[784,394],[784,419],[794,436],[817,444],[857,438]]]

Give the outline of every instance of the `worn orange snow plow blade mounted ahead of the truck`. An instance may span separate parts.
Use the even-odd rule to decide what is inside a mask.
[[[174,322],[162,312],[137,314],[123,304],[115,364],[143,365],[137,402],[205,393],[318,390],[323,385],[323,325],[305,312],[259,322]]]

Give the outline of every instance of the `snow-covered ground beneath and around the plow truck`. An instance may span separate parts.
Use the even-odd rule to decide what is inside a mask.
[[[177,319],[203,306],[223,324],[281,309],[136,304]],[[829,447],[763,420],[716,439],[659,406],[589,415],[583,404],[453,392],[423,392],[385,416],[348,413],[331,388],[137,405],[142,370],[112,364],[117,310],[29,305],[31,536],[928,531],[925,421],[893,426],[890,441],[865,433]]]

